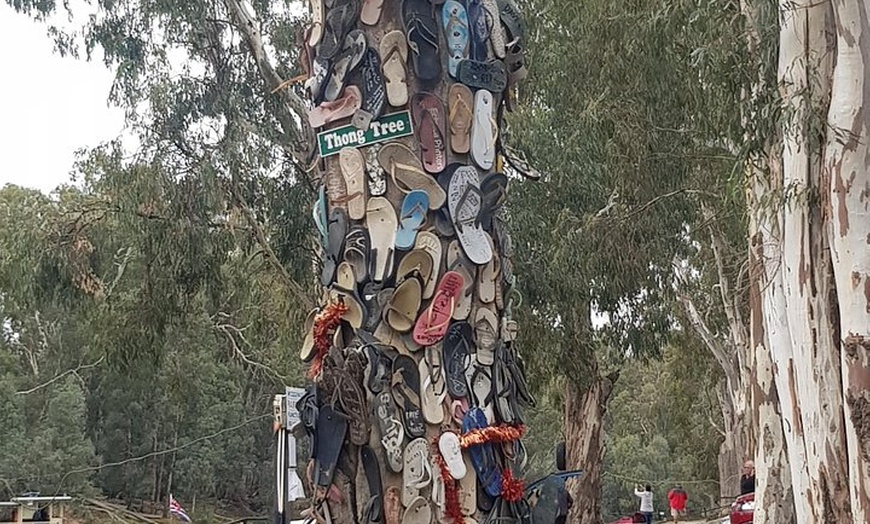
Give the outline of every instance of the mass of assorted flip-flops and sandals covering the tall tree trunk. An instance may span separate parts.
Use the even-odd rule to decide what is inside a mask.
[[[534,174],[499,140],[525,75],[519,12],[512,0],[310,4],[309,123],[362,130],[405,110],[413,124],[410,136],[322,159],[323,303],[346,310],[325,354],[312,311],[300,354],[319,359],[298,405],[313,514],[329,521],[363,488],[350,522],[443,522],[450,483],[465,523],[520,521],[502,475],[523,467],[521,442],[460,444],[521,427],[534,404],[514,344],[504,163]]]

